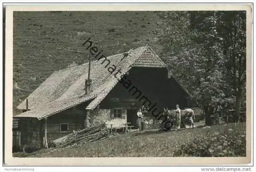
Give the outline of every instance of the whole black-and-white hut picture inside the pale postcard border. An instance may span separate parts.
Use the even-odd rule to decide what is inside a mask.
[[[12,157],[251,157],[248,12],[14,10]]]

